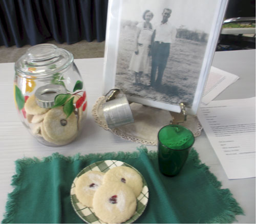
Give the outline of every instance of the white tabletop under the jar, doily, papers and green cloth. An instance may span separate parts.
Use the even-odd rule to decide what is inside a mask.
[[[82,75],[88,95],[88,117],[82,135],[73,143],[52,148],[38,143],[20,122],[13,102],[14,63],[0,64],[0,219],[3,220],[7,194],[12,192],[12,175],[15,174],[14,161],[20,158],[51,155],[59,152],[65,156],[101,153],[109,151],[134,151],[141,144],[123,140],[110,131],[104,130],[95,123],[91,114],[92,107],[101,96],[103,85],[103,58],[76,59],[75,63]],[[212,65],[219,69],[240,76],[240,79],[229,86],[218,96],[220,99],[249,98],[255,96],[255,50],[216,52]],[[196,138],[195,149],[200,159],[210,167],[222,188],[229,188],[245,212],[238,215],[239,223],[255,223],[255,178],[228,180],[214,150],[204,131]],[[149,150],[157,150],[156,146],[147,146]]]

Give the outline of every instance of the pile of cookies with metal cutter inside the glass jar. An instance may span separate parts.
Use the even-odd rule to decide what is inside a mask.
[[[68,93],[59,84],[39,87],[25,103],[32,134],[49,146],[66,145],[77,137],[86,107],[85,91]]]

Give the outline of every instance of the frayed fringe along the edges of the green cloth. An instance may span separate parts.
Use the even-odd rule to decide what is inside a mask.
[[[15,161],[16,165],[16,174],[12,176],[12,186],[14,190],[12,193],[8,194],[8,201],[6,204],[6,213],[4,214],[4,219],[2,223],[13,223],[15,222],[14,215],[17,211],[16,201],[19,199],[20,186],[23,182],[23,170],[33,164],[38,163],[51,163],[55,159],[61,159],[67,163],[74,163],[75,161],[81,162],[90,162],[91,160],[97,159],[100,160],[130,160],[138,159],[142,154],[145,154],[147,158],[151,161],[157,161],[157,152],[148,151],[145,146],[137,148],[137,151],[134,152],[108,152],[108,153],[96,153],[96,154],[87,154],[81,155],[80,153],[74,156],[63,156],[59,153],[53,153],[51,156],[47,156],[39,160],[38,158],[24,158]],[[216,217],[212,217],[207,223],[231,223],[236,220],[235,216],[238,214],[244,214],[242,208],[239,206],[237,201],[232,197],[229,189],[221,189],[221,182],[219,182],[214,174],[209,171],[209,167],[205,164],[202,164],[199,155],[195,149],[192,149],[189,153],[189,161],[193,161],[194,167],[203,170],[205,173],[208,182],[216,188],[217,192],[223,198],[223,201],[227,204],[227,208],[221,214]],[[152,162],[153,163],[153,162]],[[170,179],[169,179],[170,180]],[[174,180],[174,179],[173,179]]]

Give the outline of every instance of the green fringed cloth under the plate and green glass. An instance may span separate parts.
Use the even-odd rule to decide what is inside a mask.
[[[175,177],[162,175],[157,152],[140,147],[134,152],[77,154],[58,153],[42,160],[17,160],[3,223],[83,223],[72,208],[72,181],[84,167],[101,160],[120,160],[144,176],[149,199],[136,223],[230,223],[243,214],[229,189],[221,183],[192,149]]]

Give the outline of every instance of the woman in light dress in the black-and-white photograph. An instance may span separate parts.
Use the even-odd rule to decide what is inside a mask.
[[[146,10],[143,13],[144,21],[137,25],[135,37],[135,50],[132,55],[129,70],[135,75],[135,85],[141,85],[141,75],[150,72],[150,49],[153,34],[153,26],[150,21],[153,18],[153,13]]]

